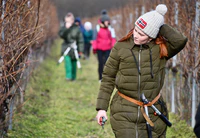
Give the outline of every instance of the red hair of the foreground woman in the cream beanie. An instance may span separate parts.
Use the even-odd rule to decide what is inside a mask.
[[[128,40],[133,35],[133,30],[134,28],[131,29],[126,36],[122,37],[119,40],[119,42]],[[166,40],[161,35],[158,35],[157,38],[155,39],[155,43],[160,46],[160,58],[167,57],[168,51],[167,51],[167,46],[166,46]]]

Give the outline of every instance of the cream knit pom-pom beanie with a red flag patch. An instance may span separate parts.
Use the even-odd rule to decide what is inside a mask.
[[[149,37],[156,38],[160,27],[164,24],[164,15],[166,12],[166,5],[159,4],[156,10],[140,16],[136,20],[135,25]]]

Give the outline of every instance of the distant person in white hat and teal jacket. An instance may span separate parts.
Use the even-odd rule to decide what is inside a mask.
[[[91,49],[91,41],[93,39],[93,30],[91,22],[85,22],[84,24],[84,57],[85,59],[89,59],[90,57],[90,49]]]

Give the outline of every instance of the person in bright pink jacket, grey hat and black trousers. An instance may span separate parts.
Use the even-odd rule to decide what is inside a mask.
[[[101,82],[103,68],[110,54],[110,50],[114,46],[113,43],[115,43],[113,41],[109,25],[110,18],[107,14],[107,11],[102,10],[100,20],[98,21],[96,29],[94,30],[94,37],[92,41],[93,53],[97,53],[98,58],[99,82]]]

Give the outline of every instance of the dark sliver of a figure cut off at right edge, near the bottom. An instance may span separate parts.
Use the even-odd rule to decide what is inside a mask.
[[[196,124],[194,126],[194,133],[196,134],[197,138],[200,138],[200,104],[197,108],[195,120],[196,120]]]

